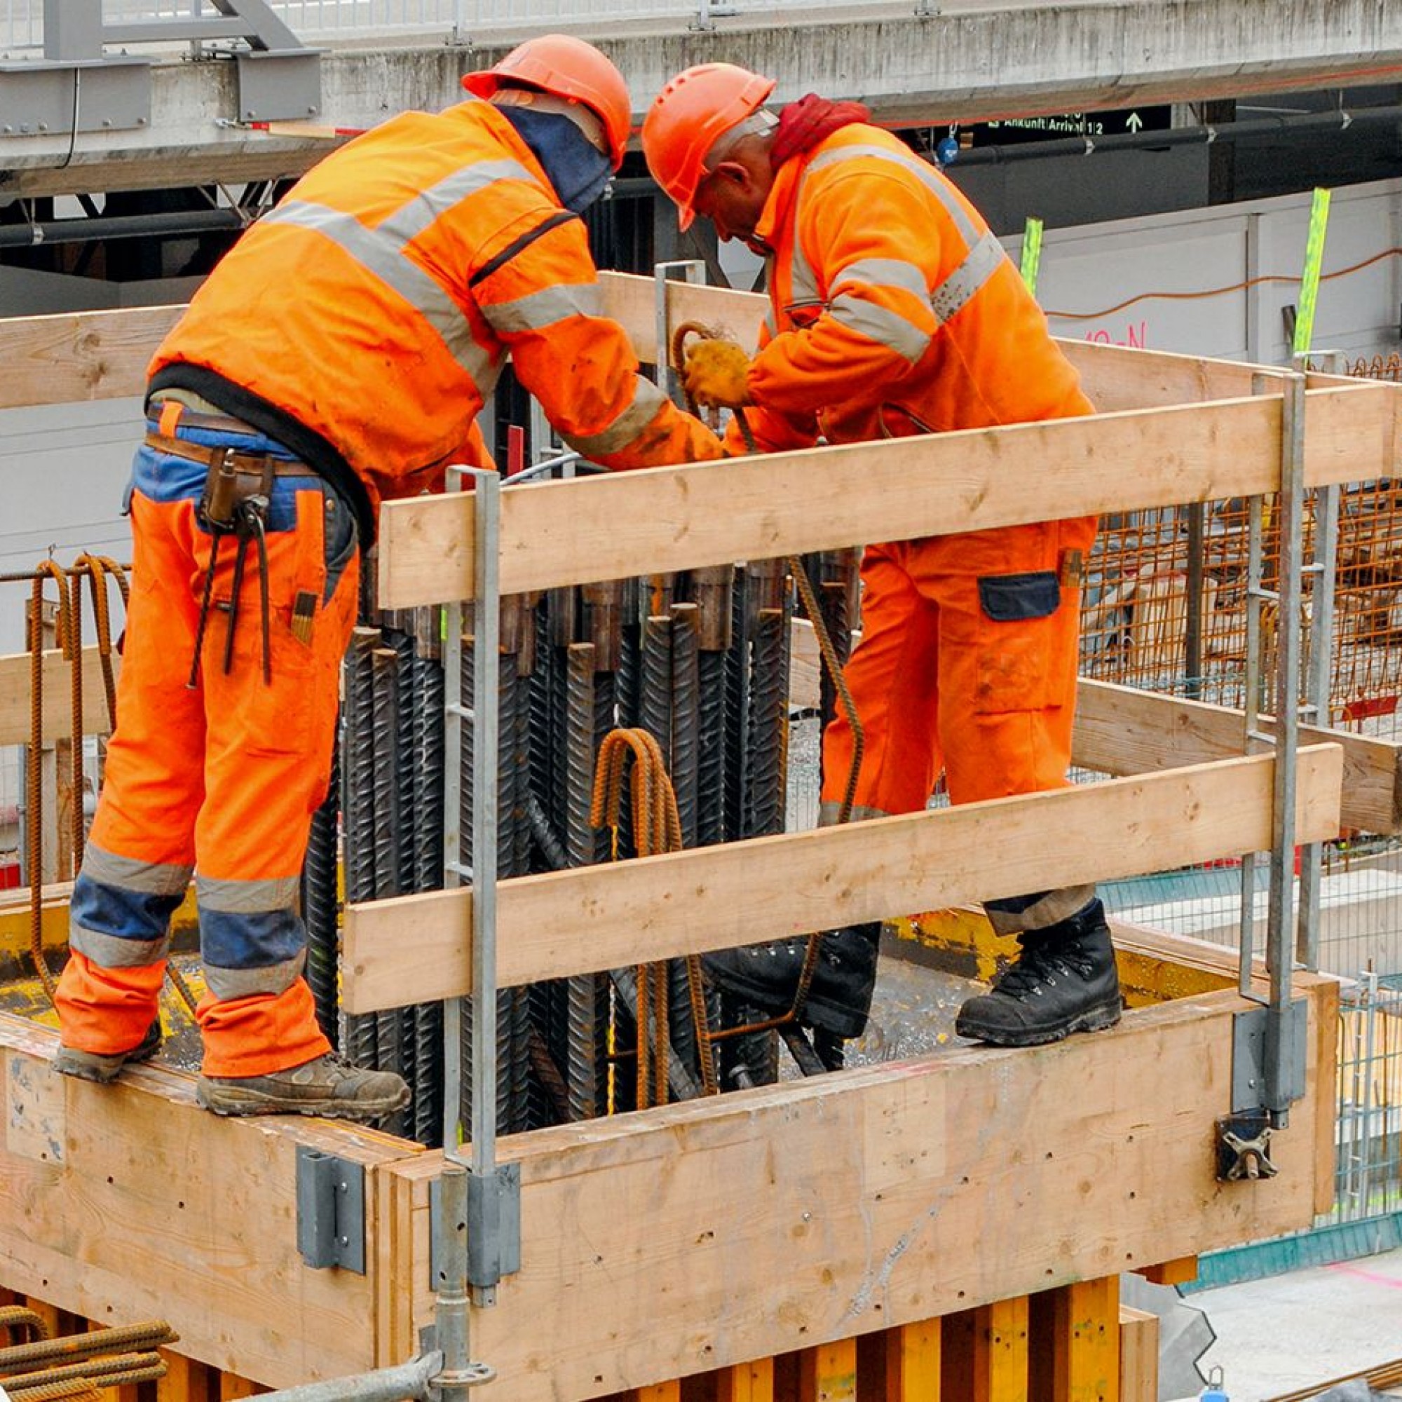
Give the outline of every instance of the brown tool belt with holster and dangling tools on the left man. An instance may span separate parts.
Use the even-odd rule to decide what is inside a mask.
[[[200,422],[196,422],[200,421]],[[182,415],[186,426],[213,428],[207,415]],[[247,430],[237,419],[217,421],[222,432]],[[219,565],[219,547],[226,536],[237,541],[234,554],[234,576],[227,604],[220,604],[229,614],[224,632],[224,672],[234,663],[234,627],[238,622],[238,596],[243,592],[244,565],[248,545],[258,554],[258,599],[262,622],[262,673],[264,684],[272,684],[272,638],[268,604],[268,541],[266,517],[272,503],[273,479],[278,477],[317,477],[306,463],[273,457],[269,453],[240,453],[233,447],[207,447],[191,443],[188,439],[172,437],[160,432],[146,435],[147,446],[158,453],[182,457],[191,463],[207,464],[205,491],[199,499],[196,516],[209,531],[209,568],[205,571],[205,589],[199,604],[199,624],[195,629],[195,656],[191,659],[186,686],[199,686],[199,659],[205,648],[205,632],[209,624],[209,607],[215,590],[215,571]]]

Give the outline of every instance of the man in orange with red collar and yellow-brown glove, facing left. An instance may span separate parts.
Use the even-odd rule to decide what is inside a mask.
[[[809,95],[778,115],[774,81],[729,63],[674,77],[642,126],[648,167],[680,210],[767,259],[770,315],[750,359],[693,342],[694,402],[740,409],[761,451],[1091,414],[1075,370],[979,212],[855,102]],[[742,423],[743,421],[743,423]],[[1030,467],[1030,464],[1029,464]],[[1036,489],[1035,468],[1029,489]],[[865,730],[852,816],[927,806],[941,771],[955,803],[1067,782],[1080,578],[1095,520],[869,545],[862,637],[845,669]],[[841,714],[823,737],[822,819],[852,758]],[[956,1030],[1004,1046],[1120,1016],[1110,934],[1092,886],[986,903],[1021,953],[965,1002]],[[879,924],[827,932],[805,1019],[865,1026]],[[791,1007],[805,939],[728,951],[711,979],[764,1009]]]

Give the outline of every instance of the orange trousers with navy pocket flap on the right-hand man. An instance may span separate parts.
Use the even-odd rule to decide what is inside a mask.
[[[865,753],[858,817],[917,812],[945,775],[955,803],[1067,782],[1080,566],[1095,519],[868,547],[862,637],[845,669]],[[823,812],[845,792],[852,730],[823,736]]]

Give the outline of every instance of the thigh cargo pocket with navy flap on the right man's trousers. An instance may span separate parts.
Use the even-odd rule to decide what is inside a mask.
[[[976,714],[1043,709],[1061,691],[1053,667],[1061,604],[1056,572],[986,575],[979,580],[979,604]]]

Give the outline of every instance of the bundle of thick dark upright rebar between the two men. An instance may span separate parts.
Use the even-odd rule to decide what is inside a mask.
[[[845,658],[855,614],[855,552],[813,557],[834,646]],[[684,847],[782,831],[788,784],[788,672],[794,582],[785,561],[554,589],[502,600],[498,852],[502,879],[637,855],[628,796],[613,831],[589,823],[600,746],[614,729],[655,740],[676,795]],[[304,873],[308,979],[322,1026],[353,1061],[409,1078],[414,1102],[384,1127],[425,1144],[442,1136],[440,1005],[336,1015],[336,836],[343,899],[366,901],[443,885],[444,858],[472,865],[472,744],[464,725],[454,854],[443,851],[443,648],[439,610],[363,610],[343,673],[336,780],[313,823]],[[829,707],[830,707],[829,701]],[[474,718],[475,723],[475,718]],[[747,931],[736,930],[736,944]],[[663,969],[665,1094],[701,1094],[686,960]],[[712,1014],[716,1011],[712,1005]],[[639,1050],[634,970],[498,993],[498,1127],[592,1119],[635,1103]],[[471,1012],[461,1018],[463,1120],[471,1096]],[[646,1032],[644,1033],[646,1037]],[[768,1040],[773,1040],[770,1037]],[[736,1054],[730,1043],[722,1052]],[[750,1060],[754,1060],[753,1049]],[[662,1064],[662,1063],[659,1063]]]

